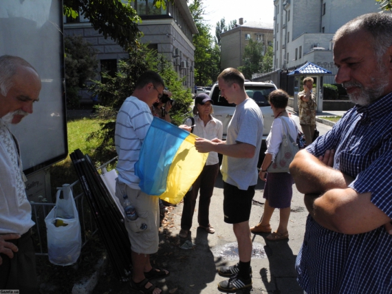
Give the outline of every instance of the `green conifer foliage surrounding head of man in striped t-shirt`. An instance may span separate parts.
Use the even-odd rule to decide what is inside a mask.
[[[178,78],[171,62],[161,54],[157,54],[155,50],[149,50],[146,44],[140,44],[140,48],[129,52],[129,58],[119,61],[116,76],[111,77],[104,73],[102,76],[105,77],[106,82],[94,81],[95,84],[90,88],[91,92],[98,94],[102,104],[98,107],[98,117],[107,120],[101,123],[98,132],[89,136],[89,139],[97,138],[100,142],[96,156],[102,162],[116,156],[114,131],[118,108],[127,97],[131,96],[136,81],[146,70],[158,72],[165,86],[173,94],[175,105],[171,109],[172,123],[182,124],[184,119],[190,116],[190,103],[192,103],[190,90],[184,89],[183,80]]]

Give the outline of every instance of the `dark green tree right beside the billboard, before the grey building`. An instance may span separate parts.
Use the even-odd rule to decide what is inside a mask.
[[[97,51],[81,36],[65,36],[64,52],[67,108],[73,109],[79,105],[80,88],[85,87],[85,82],[96,76]]]

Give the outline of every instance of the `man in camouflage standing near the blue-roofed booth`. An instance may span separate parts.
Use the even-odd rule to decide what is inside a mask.
[[[313,142],[314,130],[316,129],[316,99],[312,93],[313,78],[303,79],[303,91],[298,93],[299,123],[305,134],[306,143]]]

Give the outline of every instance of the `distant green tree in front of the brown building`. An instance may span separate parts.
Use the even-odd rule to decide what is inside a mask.
[[[243,66],[238,67],[245,78],[252,79],[252,74],[260,72],[263,61],[264,45],[262,42],[249,40],[243,53]]]

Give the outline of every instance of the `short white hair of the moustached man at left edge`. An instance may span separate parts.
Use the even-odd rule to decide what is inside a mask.
[[[12,76],[17,74],[18,65],[30,67],[36,72],[35,68],[23,58],[11,55],[0,56],[0,93],[7,96],[8,91],[13,86]],[[38,74],[38,73],[37,73]]]

